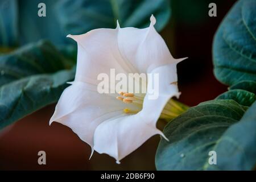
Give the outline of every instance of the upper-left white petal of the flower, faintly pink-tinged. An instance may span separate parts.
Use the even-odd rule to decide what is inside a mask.
[[[97,76],[110,69],[117,73],[133,73],[129,62],[123,60],[117,44],[117,29],[100,28],[82,35],[68,35],[77,42],[77,69],[75,81],[97,85]]]

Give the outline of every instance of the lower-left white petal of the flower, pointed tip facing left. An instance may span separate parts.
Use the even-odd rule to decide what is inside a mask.
[[[70,127],[93,147],[96,127],[109,118],[121,117],[125,107],[114,96],[99,94],[92,85],[74,82],[61,94],[50,124],[56,121]]]

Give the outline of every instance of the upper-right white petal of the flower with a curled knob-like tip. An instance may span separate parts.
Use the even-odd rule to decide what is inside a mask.
[[[177,63],[172,57],[163,38],[154,28],[155,17],[152,15],[148,28],[120,28],[118,47],[122,57],[129,61],[139,73],[151,72],[164,64]]]

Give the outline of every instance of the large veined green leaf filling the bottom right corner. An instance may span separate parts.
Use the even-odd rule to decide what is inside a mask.
[[[256,103],[213,100],[191,107],[167,124],[156,153],[158,170],[249,170],[256,163]],[[242,119],[241,119],[242,118]],[[240,121],[240,122],[238,122]],[[209,151],[217,164],[210,165]]]

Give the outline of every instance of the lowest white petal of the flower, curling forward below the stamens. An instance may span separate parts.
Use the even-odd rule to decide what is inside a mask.
[[[152,135],[162,134],[155,126],[143,122],[144,119],[148,119],[147,113],[102,122],[94,134],[94,150],[112,156],[119,163]]]

